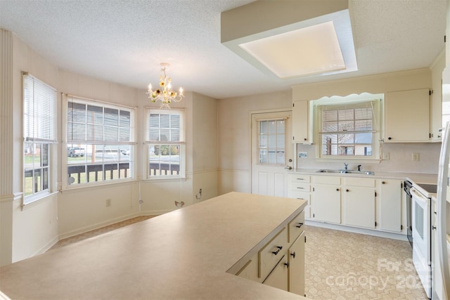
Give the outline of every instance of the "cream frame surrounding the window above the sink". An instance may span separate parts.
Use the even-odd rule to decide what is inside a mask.
[[[316,146],[316,160],[323,162],[330,161],[348,161],[348,162],[380,162],[380,134],[381,134],[381,124],[383,122],[383,98],[384,95],[381,94],[371,94],[371,93],[361,93],[360,95],[352,94],[349,96],[332,96],[323,97],[318,100],[311,101],[314,105],[314,136],[317,141]],[[345,105],[348,107],[354,107],[364,103],[371,103],[373,108],[372,115],[372,129],[368,131],[361,131],[361,133],[371,132],[371,150],[372,155],[323,155],[323,141],[321,133],[322,126],[322,116],[321,116],[321,106],[327,105],[328,107],[342,107],[344,109]],[[339,131],[334,131],[337,133]],[[352,131],[356,134],[356,131]],[[342,131],[345,134],[345,131]]]

